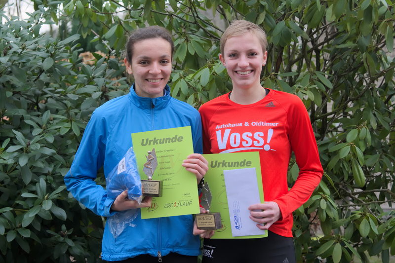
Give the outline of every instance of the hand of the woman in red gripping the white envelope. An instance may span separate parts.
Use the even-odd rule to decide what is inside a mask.
[[[281,211],[276,202],[265,202],[248,207],[250,219],[257,224],[259,229],[267,230],[273,223],[281,218]],[[260,211],[253,211],[260,210]],[[262,225],[263,224],[263,225]]]

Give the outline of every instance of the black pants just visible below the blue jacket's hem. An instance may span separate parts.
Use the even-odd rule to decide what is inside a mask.
[[[150,255],[140,255],[134,258],[130,258],[122,261],[108,261],[114,263],[158,263],[158,257]],[[162,257],[162,263],[197,263],[196,256],[185,256],[177,253],[170,253]]]

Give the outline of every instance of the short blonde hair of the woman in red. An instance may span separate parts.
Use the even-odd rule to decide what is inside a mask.
[[[224,34],[222,34],[220,41],[221,54],[224,54],[224,47],[228,38],[240,36],[248,32],[259,39],[261,42],[262,51],[265,53],[266,47],[268,46],[268,40],[266,39],[265,31],[263,31],[263,29],[258,25],[255,25],[249,21],[233,20],[231,25],[225,30]]]

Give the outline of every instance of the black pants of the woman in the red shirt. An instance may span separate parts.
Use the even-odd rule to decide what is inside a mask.
[[[202,263],[296,263],[292,237],[204,239]]]

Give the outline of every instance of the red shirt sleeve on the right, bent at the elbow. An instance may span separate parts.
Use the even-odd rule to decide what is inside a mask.
[[[294,97],[288,112],[289,141],[295,153],[299,175],[290,191],[274,200],[286,217],[309,200],[323,174],[321,162],[310,122],[303,102]]]

